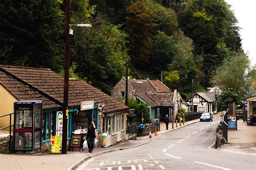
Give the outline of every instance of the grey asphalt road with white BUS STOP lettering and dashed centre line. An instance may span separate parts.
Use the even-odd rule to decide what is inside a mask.
[[[254,169],[254,155],[215,150],[213,122],[198,122],[154,137],[151,143],[89,159],[77,169]]]

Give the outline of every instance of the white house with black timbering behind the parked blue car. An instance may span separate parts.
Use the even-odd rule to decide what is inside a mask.
[[[193,97],[193,98],[192,98]],[[193,105],[192,105],[193,104]],[[210,112],[217,113],[216,98],[214,91],[202,91],[193,94],[181,104],[186,112]]]

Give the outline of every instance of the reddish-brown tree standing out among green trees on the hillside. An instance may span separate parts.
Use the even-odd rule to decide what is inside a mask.
[[[124,31],[129,35],[128,48],[133,66],[144,70],[152,51],[153,11],[144,2],[137,1],[127,9]]]

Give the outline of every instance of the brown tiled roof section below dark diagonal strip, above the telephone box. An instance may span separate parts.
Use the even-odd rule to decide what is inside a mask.
[[[8,90],[18,101],[43,101],[43,109],[60,108],[60,105],[38,94],[37,91],[26,87],[21,82],[13,79],[0,71],[0,84]]]

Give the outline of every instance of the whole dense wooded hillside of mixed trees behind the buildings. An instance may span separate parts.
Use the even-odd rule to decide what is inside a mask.
[[[1,1],[0,64],[62,74],[65,2]],[[236,59],[246,55],[237,19],[224,0],[76,0],[71,10],[72,24],[91,23],[92,28],[72,26],[70,75],[108,94],[126,65],[136,79],[163,75],[184,98],[191,95],[192,80],[194,91],[217,84],[242,97],[248,90],[255,93],[250,61]],[[239,60],[244,64],[237,70],[226,69]],[[242,77],[239,88],[220,82],[225,69],[239,74],[233,80]]]

